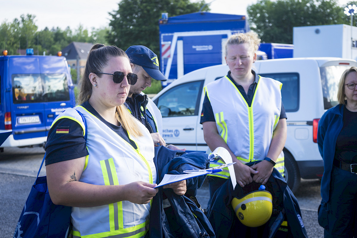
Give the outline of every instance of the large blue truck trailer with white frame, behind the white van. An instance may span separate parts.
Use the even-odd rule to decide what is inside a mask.
[[[246,16],[194,12],[159,20],[161,72],[168,79],[162,86],[191,71],[225,64],[228,37],[249,31]]]

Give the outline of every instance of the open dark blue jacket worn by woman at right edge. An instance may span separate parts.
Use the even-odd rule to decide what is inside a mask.
[[[333,158],[337,136],[343,126],[344,105],[339,104],[327,110],[318,122],[317,145],[323,159],[323,175],[321,179],[321,197],[323,202],[328,202],[330,194],[330,181]]]

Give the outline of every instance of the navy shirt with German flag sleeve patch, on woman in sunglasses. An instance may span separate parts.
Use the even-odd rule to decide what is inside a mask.
[[[136,149],[135,143],[129,139],[127,131],[121,125],[116,126],[104,120],[88,101],[82,103],[81,106],[86,108]],[[57,129],[68,130],[68,133],[56,133]],[[98,148],[100,148],[100,145],[98,145]],[[48,132],[45,150],[45,165],[89,155],[82,127],[69,118],[62,118],[51,127]]]

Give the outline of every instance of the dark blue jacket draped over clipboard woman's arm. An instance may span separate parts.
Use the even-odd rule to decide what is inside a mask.
[[[164,174],[182,174],[187,169],[206,169],[210,164],[206,153],[185,153],[164,146],[155,147],[154,163],[157,183],[162,180]],[[207,217],[190,198],[196,196],[197,189],[202,186],[204,180],[205,176],[186,179],[187,192],[184,196],[175,194],[170,188],[159,187],[159,192],[152,199],[146,238],[215,238]],[[164,208],[163,201],[170,206]]]

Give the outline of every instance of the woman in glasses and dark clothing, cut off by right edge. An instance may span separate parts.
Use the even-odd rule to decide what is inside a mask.
[[[327,237],[357,237],[357,67],[343,72],[338,105],[318,123],[324,162],[318,222]]]

